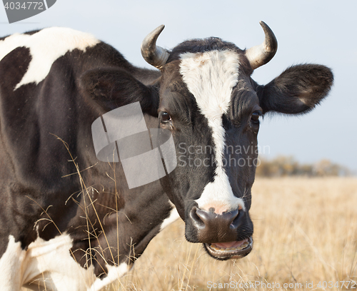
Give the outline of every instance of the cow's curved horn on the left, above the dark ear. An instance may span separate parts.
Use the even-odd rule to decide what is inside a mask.
[[[154,31],[151,31],[141,43],[141,55],[144,57],[144,60],[159,69],[164,66],[170,56],[170,52],[165,48],[156,46],[156,40],[164,28],[165,26],[161,25]]]

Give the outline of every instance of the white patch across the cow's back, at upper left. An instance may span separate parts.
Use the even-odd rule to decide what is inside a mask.
[[[42,29],[36,34],[13,34],[0,41],[0,61],[4,56],[18,47],[30,49],[31,62],[26,73],[15,90],[28,83],[43,81],[49,74],[51,66],[57,58],[64,56],[67,52],[86,48],[99,43],[91,34],[86,34],[74,29],[51,27]]]

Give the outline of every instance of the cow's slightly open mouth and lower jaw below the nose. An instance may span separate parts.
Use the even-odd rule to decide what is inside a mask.
[[[209,255],[217,260],[240,259],[253,249],[253,239],[246,238],[236,242],[204,243]]]

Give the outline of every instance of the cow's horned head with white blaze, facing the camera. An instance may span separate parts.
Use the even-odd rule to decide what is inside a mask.
[[[243,257],[253,247],[248,210],[258,163],[259,119],[268,112],[311,111],[333,82],[329,68],[304,64],[258,85],[251,78],[253,70],[277,50],[273,32],[265,23],[261,26],[265,41],[247,50],[209,38],[184,41],[172,51],[156,46],[164,29],[159,26],[144,39],[141,52],[161,70],[161,77],[151,86],[125,77],[131,84],[127,91],[135,91],[128,96],[136,96],[131,98],[139,99],[174,137],[178,166],[161,185],[186,223],[186,239],[202,242],[219,260]],[[115,73],[121,83],[119,75],[116,81],[111,77],[106,81],[111,91],[123,87],[124,73],[108,74]],[[89,78],[96,76],[92,72]]]

